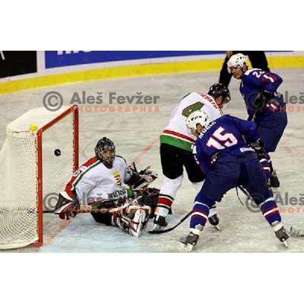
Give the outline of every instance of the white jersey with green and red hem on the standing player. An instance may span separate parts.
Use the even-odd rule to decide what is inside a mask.
[[[215,100],[208,94],[192,92],[186,95],[171,113],[170,122],[161,134],[161,142],[192,151],[196,137],[186,127],[187,117],[203,109],[211,121],[223,115]]]

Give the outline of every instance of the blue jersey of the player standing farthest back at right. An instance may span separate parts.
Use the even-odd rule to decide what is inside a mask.
[[[249,69],[244,73],[240,85],[240,92],[245,100],[250,119],[254,115],[253,102],[258,92],[266,91],[272,93],[271,98],[273,99],[282,82],[283,80],[278,74],[265,72],[258,68]]]

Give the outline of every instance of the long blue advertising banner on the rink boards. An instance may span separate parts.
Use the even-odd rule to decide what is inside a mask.
[[[46,51],[46,68],[87,63],[222,54],[225,51]]]

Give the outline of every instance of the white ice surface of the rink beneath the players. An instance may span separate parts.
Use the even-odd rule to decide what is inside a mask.
[[[284,84],[280,91],[289,91],[289,95],[299,96],[304,91],[303,69],[281,69]],[[151,166],[160,178],[155,186],[162,184],[161,164],[159,157],[158,136],[166,125],[171,110],[178,100],[191,91],[206,92],[209,85],[218,80],[218,72],[180,73],[154,75],[141,78],[128,78],[110,81],[72,83],[12,94],[0,95],[0,146],[5,140],[5,130],[9,122],[30,108],[42,106],[43,96],[49,91],[62,94],[65,104],[69,103],[73,92],[86,91],[87,95],[96,96],[103,92],[103,105],[108,106],[108,92],[117,95],[160,95],[158,102],[160,112],[82,112],[80,113],[80,161],[84,162],[93,153],[97,140],[107,136],[115,141],[117,153],[128,161],[140,157],[141,166]],[[246,118],[245,107],[238,91],[238,84],[232,80],[232,101],[227,113]],[[118,105],[118,104],[113,104]],[[125,105],[126,106],[126,105]],[[125,107],[123,106],[123,107]],[[34,123],[34,122],[33,122]],[[279,149],[273,155],[280,180],[281,192],[289,197],[299,198],[304,193],[302,185],[304,156],[304,111],[289,113],[289,123]],[[142,154],[150,144],[155,144]],[[195,191],[184,178],[184,182],[173,205],[174,223],[191,209]],[[245,200],[244,196],[241,196]],[[303,227],[303,206],[300,213],[282,213],[286,225]],[[287,209],[287,208],[286,208]],[[207,224],[196,252],[303,252],[304,238],[292,238],[289,248],[277,242],[274,234],[261,214],[251,213],[239,203],[235,191],[228,193],[218,205],[222,232],[216,232]],[[77,216],[71,223],[63,224],[53,214],[44,216],[45,245],[37,249],[18,249],[18,252],[180,252],[178,239],[188,231],[188,221],[171,233],[163,235],[145,234],[139,239],[133,238],[117,229],[94,222],[90,215]],[[151,223],[150,223],[151,224]]]

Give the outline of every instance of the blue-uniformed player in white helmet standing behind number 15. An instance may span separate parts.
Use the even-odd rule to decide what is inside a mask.
[[[279,187],[280,182],[268,153],[276,150],[287,125],[283,96],[277,94],[283,80],[270,71],[248,69],[246,57],[241,53],[231,56],[227,66],[234,78],[241,80],[240,92],[246,103],[248,120],[256,123],[258,135],[264,142],[267,151],[267,158],[262,160],[265,175],[272,187]]]

